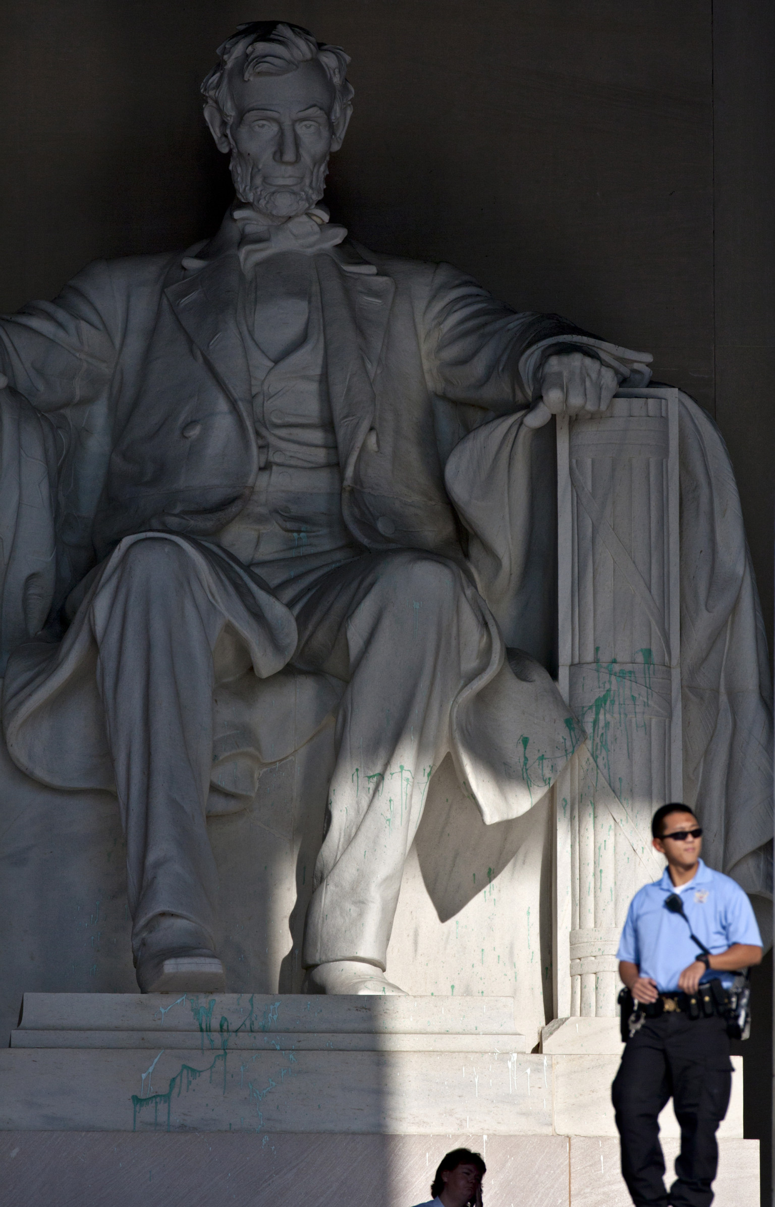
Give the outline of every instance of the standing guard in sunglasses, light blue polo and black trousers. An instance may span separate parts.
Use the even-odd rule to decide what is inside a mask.
[[[709,1207],[732,1090],[726,990],[759,963],[762,938],[742,888],[700,859],[686,805],[658,809],[652,834],[668,867],[633,898],[617,952],[636,1009],[612,1094],[622,1173],[636,1207]],[[670,1095],[681,1154],[666,1191],[657,1116]]]

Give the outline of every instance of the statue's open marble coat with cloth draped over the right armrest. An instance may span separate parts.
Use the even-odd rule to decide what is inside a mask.
[[[68,595],[72,613],[94,567],[122,541],[168,532],[206,542],[250,497],[258,455],[235,320],[237,238],[227,217],[214,240],[185,255],[97,262],[56,302],[0,325],[0,369],[18,391],[0,395],[0,636],[4,660],[17,652],[4,723],[31,774],[36,710],[47,707],[57,676],[75,674],[72,651],[86,639],[71,626],[59,647],[24,640]],[[558,316],[514,314],[447,264],[345,243],[317,256],[315,269],[345,523],[366,548],[437,553],[476,583],[490,614],[491,658],[454,710],[456,762],[488,822],[517,816],[572,752],[572,744],[563,750],[567,710],[546,671],[512,659],[523,667],[515,678],[503,665],[505,647],[544,660],[547,652],[552,449],[547,430],[521,422],[535,354],[576,338],[624,373],[637,369],[634,354]],[[19,438],[14,460],[8,450]],[[745,868],[745,887],[767,892],[770,771],[762,751],[771,721],[761,612],[747,554],[706,552],[697,564],[700,543],[723,552],[733,540],[742,550],[745,536],[723,443],[688,398],[681,441],[682,508],[692,515],[690,527],[682,524],[681,567],[686,799],[710,832],[713,865]],[[518,740],[520,718],[553,747],[544,750],[548,772],[531,787],[499,787],[491,764],[503,742]],[[742,771],[734,753],[742,731],[753,735],[745,794],[730,776]]]

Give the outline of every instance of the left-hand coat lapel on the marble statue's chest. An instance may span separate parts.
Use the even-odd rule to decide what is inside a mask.
[[[239,278],[237,255],[227,252],[186,272],[164,292],[194,348],[232,398],[244,407],[250,401],[250,371],[237,326]]]

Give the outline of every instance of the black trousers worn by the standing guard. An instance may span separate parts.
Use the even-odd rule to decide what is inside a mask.
[[[613,1080],[622,1174],[635,1207],[709,1207],[718,1165],[716,1130],[732,1091],[723,1019],[665,1013],[628,1039]],[[665,1190],[657,1116],[672,1096],[681,1126],[676,1180]]]

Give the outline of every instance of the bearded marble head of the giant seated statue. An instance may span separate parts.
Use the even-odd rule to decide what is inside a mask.
[[[204,116],[231,154],[237,196],[273,222],[303,214],[322,197],[350,121],[349,57],[278,21],[239,25],[217,54]]]

